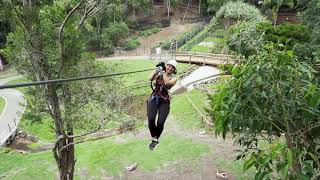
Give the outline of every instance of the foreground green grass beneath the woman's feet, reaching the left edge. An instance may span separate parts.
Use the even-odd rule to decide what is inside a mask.
[[[134,162],[142,171],[155,171],[173,161],[192,163],[209,151],[206,144],[180,136],[163,137],[156,151],[147,148],[149,140],[127,138],[125,135],[120,138],[123,141],[102,139],[77,145],[76,179],[84,178],[79,176],[84,170],[94,179],[100,179],[103,172],[107,173],[105,176],[119,176],[126,166]],[[0,152],[0,159],[0,178],[53,179],[57,173],[51,151],[28,155]]]

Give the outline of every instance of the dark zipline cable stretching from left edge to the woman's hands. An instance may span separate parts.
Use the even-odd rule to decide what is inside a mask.
[[[146,72],[146,71],[151,71],[151,70],[154,70],[154,68],[153,69],[144,69],[144,70],[139,70],[139,71],[129,71],[129,72],[122,72],[122,73],[95,75],[95,76],[83,76],[83,77],[73,77],[73,78],[65,78],[65,79],[53,79],[53,80],[47,80],[47,81],[36,81],[36,82],[29,82],[29,83],[0,85],[0,89],[18,88],[18,87],[25,87],[25,86],[37,86],[37,85],[44,85],[44,84],[55,84],[55,83],[63,83],[63,82],[87,80],[87,79],[97,79],[97,78],[111,77],[111,76],[121,76],[121,75],[134,74],[134,73]]]

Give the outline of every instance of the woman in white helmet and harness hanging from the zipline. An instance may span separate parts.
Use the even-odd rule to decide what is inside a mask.
[[[170,111],[169,90],[177,82],[173,74],[177,72],[177,62],[169,60],[166,64],[160,62],[150,74],[152,94],[147,102],[148,127],[151,135],[149,149],[153,150],[159,144],[159,138],[164,128],[164,123]],[[156,116],[158,120],[156,123]]]

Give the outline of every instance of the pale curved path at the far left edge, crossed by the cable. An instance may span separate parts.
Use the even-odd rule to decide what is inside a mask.
[[[0,80],[0,85],[19,76],[13,76]],[[3,146],[7,139],[16,131],[20,118],[25,110],[26,100],[23,94],[15,89],[2,89],[0,96],[6,101],[5,109],[0,115],[0,147]]]

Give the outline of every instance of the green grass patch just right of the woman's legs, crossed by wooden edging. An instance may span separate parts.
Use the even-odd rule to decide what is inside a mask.
[[[190,100],[199,108],[199,110],[205,114],[205,100],[206,94],[199,90],[193,90],[185,93]],[[172,99],[170,113],[178,124],[187,129],[199,129],[204,125],[201,123],[201,117],[197,114],[196,110],[189,103],[185,94],[176,95]]]

